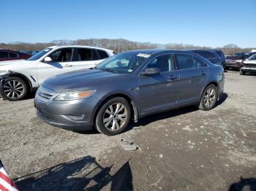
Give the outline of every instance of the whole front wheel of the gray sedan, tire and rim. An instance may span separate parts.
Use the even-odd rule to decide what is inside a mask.
[[[120,112],[116,111],[117,107]],[[130,116],[131,109],[127,100],[121,97],[112,98],[100,107],[94,126],[106,136],[115,136],[127,128]]]

